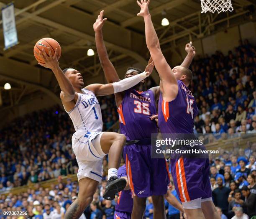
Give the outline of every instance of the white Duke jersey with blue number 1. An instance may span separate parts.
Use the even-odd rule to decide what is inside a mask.
[[[76,132],[102,132],[102,115],[100,104],[95,94],[82,89],[83,94],[77,93],[77,102],[72,110],[67,112]]]

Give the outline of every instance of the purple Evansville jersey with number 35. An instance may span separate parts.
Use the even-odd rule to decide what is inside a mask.
[[[157,133],[156,122],[149,118],[156,115],[155,97],[151,90],[127,90],[118,107],[118,114],[120,133],[124,134],[127,140],[151,138],[151,133]]]

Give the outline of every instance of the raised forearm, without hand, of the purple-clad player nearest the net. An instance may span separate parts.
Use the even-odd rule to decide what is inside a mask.
[[[152,23],[150,14],[144,16],[144,22],[145,22],[146,44],[149,51],[151,52],[153,48],[159,48],[160,43],[155,31],[154,25]]]

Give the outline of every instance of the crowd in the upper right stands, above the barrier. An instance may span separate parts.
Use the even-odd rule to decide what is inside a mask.
[[[191,65],[200,115],[195,118],[195,132],[256,133],[256,47],[246,40],[235,53],[220,51],[197,59]]]

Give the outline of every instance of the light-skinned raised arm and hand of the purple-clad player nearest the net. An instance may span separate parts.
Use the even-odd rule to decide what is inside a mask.
[[[151,20],[151,15],[148,11],[148,5],[150,0],[141,0],[141,3],[137,1],[138,5],[141,7],[138,16],[142,16],[145,22],[145,32],[146,32],[146,44],[148,50],[155,62],[156,70],[159,73],[161,80],[168,82],[169,84],[177,84],[177,80],[172,73],[172,69],[167,63],[166,59],[160,48],[159,39],[157,37],[154,25]]]

